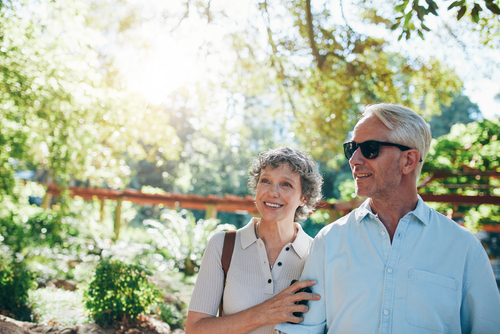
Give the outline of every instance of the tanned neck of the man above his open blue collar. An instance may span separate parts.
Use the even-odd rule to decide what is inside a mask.
[[[406,196],[393,196],[391,199],[385,198],[378,200],[370,198],[370,208],[372,212],[378,216],[382,224],[384,224],[391,238],[391,242],[394,233],[396,233],[399,221],[408,212],[415,210],[417,203],[418,195],[416,191]]]

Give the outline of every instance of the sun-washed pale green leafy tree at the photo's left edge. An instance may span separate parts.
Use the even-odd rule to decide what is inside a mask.
[[[44,182],[123,187],[128,156],[176,159],[180,142],[162,110],[125,89],[97,50],[106,40],[80,0],[0,7],[0,183],[16,170]],[[159,157],[161,155],[161,157]]]

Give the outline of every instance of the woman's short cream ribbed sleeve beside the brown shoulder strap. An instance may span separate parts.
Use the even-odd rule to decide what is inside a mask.
[[[189,302],[189,311],[217,315],[224,286],[221,263],[224,235],[225,232],[216,233],[208,241]]]

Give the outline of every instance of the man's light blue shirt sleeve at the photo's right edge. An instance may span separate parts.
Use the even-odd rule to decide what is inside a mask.
[[[463,285],[462,333],[500,333],[500,294],[491,263],[478,242]]]

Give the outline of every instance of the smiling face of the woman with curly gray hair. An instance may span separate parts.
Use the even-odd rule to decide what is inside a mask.
[[[264,168],[260,173],[255,195],[261,222],[293,222],[295,211],[306,202],[302,195],[300,176],[288,164],[274,169]]]

